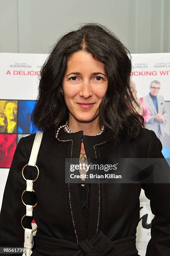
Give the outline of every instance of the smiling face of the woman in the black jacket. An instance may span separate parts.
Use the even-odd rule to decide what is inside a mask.
[[[69,117],[90,122],[99,116],[99,105],[108,87],[104,64],[89,53],[76,51],[67,61],[62,91]]]

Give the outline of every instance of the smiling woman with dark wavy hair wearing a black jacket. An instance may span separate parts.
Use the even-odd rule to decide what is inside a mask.
[[[34,218],[38,225],[33,256],[137,256],[141,188],[156,215],[147,256],[169,255],[169,184],[65,182],[68,158],[88,163],[114,157],[163,158],[160,140],[144,128],[142,116],[132,108],[127,54],[106,27],[87,23],[62,36],[41,69],[32,114],[33,123],[43,131],[36,164],[40,174],[33,184],[37,205],[33,217],[23,223],[29,228]],[[1,246],[24,243],[21,170],[29,161],[34,138],[35,133],[20,139],[10,167],[0,217]],[[30,166],[27,176],[35,179],[36,169]],[[25,202],[35,203],[26,200],[33,200],[30,195]]]

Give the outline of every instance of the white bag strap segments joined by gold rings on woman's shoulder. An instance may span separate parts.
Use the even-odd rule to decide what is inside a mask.
[[[37,131],[36,136],[34,138],[33,147],[30,154],[30,159],[28,162],[29,166],[35,166],[37,161],[37,156],[39,152],[39,148],[41,145],[41,141],[43,138],[43,132]],[[33,180],[27,179],[27,191],[33,190]],[[32,216],[33,212],[33,205],[26,205],[26,216]],[[33,230],[29,228],[25,228],[25,240],[24,240],[24,249],[25,253],[22,254],[22,256],[30,256],[33,251],[31,250],[33,248]]]

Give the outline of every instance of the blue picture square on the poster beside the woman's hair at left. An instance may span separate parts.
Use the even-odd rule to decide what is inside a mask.
[[[36,100],[18,100],[18,133],[36,133],[38,129],[33,130],[31,122],[31,113]]]

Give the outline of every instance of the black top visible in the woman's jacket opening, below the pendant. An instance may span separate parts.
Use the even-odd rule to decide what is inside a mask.
[[[79,184],[81,210],[83,212],[84,225],[87,229],[90,207],[90,183],[84,183],[84,186],[81,184]]]

